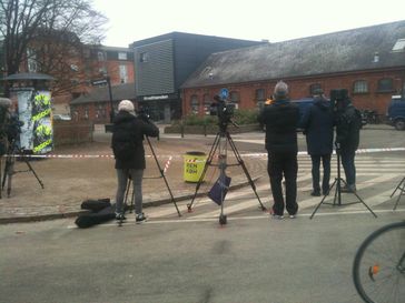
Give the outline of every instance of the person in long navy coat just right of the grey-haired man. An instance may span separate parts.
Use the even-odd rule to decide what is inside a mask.
[[[314,103],[304,113],[302,129],[306,135],[307,151],[312,160],[313,192],[314,196],[320,195],[320,160],[324,168],[322,181],[322,193],[329,192],[330,180],[330,156],[334,144],[334,113],[329,100],[324,95],[323,90],[317,90],[314,95]]]

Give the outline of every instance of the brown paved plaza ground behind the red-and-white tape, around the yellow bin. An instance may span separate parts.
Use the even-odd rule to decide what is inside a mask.
[[[95,141],[86,145],[63,147],[53,152],[53,154],[65,155],[65,158],[30,161],[29,163],[45,189],[41,189],[32,172],[27,171],[26,162],[16,161],[14,170],[27,172],[19,172],[12,176],[10,198],[7,198],[6,189],[2,191],[0,224],[77,216],[83,212],[80,209],[81,202],[88,199],[109,198],[113,203],[117,181],[113,169],[115,160],[109,147],[110,134],[99,132],[95,135]],[[181,139],[179,137],[178,140],[170,140],[169,137],[165,138],[162,134],[159,141],[156,139],[150,139],[150,141],[161,169],[167,169],[165,175],[175,200],[191,200],[196,183],[184,181],[182,155],[187,151],[202,151],[208,155],[214,137],[196,139],[194,135],[192,138]],[[151,156],[152,153],[147,142],[145,144],[148,156],[142,188],[144,206],[171,203],[169,191],[165,180],[160,176],[155,158]],[[233,154],[229,155],[228,163],[236,163]],[[265,173],[265,165],[260,163],[260,159],[249,160],[245,164],[254,180]],[[218,173],[217,168],[208,168],[205,182],[198,191],[199,195],[207,194],[217,180]],[[240,165],[227,168],[227,173],[233,178],[233,189],[248,185],[248,180]],[[180,212],[185,211],[180,210]]]

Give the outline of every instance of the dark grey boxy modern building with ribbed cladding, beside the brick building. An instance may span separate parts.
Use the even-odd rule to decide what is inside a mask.
[[[171,32],[134,42],[138,105],[152,120],[170,122],[181,117],[180,85],[214,52],[263,42]]]

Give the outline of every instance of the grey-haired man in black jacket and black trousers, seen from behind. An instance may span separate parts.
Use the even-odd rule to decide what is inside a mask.
[[[288,85],[279,81],[274,91],[275,100],[266,105],[259,115],[259,123],[266,127],[267,171],[270,179],[274,205],[273,218],[283,219],[286,208],[290,218],[298,211],[297,204],[297,127],[298,107],[288,101]],[[284,203],[281,181],[285,178],[286,199]]]

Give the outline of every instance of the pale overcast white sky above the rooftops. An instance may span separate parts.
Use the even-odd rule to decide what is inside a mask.
[[[93,0],[109,47],[181,31],[269,42],[405,20],[405,0]]]

